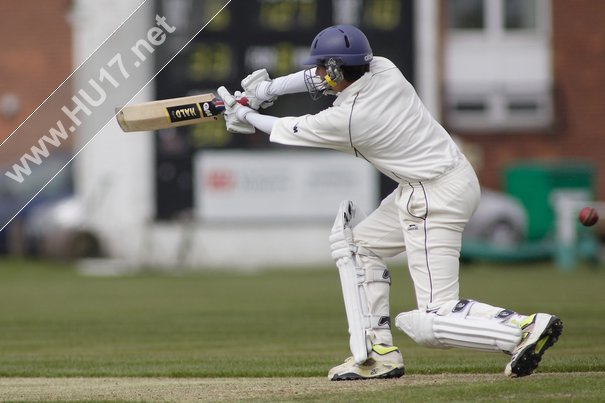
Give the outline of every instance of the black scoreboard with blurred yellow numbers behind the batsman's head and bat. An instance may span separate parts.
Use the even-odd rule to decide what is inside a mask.
[[[193,36],[226,0],[156,0],[158,13],[174,18],[182,35]],[[391,59],[413,82],[413,0],[232,0],[156,77],[156,98],[232,92],[252,71],[266,68],[271,77],[305,68],[301,64],[315,35],[340,23],[358,26],[374,55]],[[170,46],[172,38],[167,38]],[[166,51],[158,49],[158,51]],[[178,50],[178,49],[177,49]],[[159,67],[159,66],[158,66]],[[328,107],[333,97],[312,101],[305,94],[280,97],[264,113],[298,116]],[[193,161],[199,151],[285,148],[263,134],[239,135],[223,121],[160,130],[155,135],[156,218],[187,215],[193,207]],[[277,151],[277,150],[276,150]],[[388,184],[385,184],[388,187]]]

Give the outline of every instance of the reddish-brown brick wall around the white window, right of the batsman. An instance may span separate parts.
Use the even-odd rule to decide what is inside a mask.
[[[605,1],[552,0],[555,122],[541,133],[459,133],[480,150],[483,185],[501,188],[503,169],[523,159],[589,159],[605,200]]]

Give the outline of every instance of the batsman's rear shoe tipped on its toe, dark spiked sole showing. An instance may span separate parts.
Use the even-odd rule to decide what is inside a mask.
[[[544,352],[557,342],[563,332],[563,322],[556,316],[534,313],[520,323],[523,336],[512,352],[504,374],[516,378],[531,375]]]

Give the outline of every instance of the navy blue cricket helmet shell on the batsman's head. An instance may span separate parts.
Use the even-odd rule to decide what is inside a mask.
[[[359,66],[370,63],[372,57],[370,42],[359,28],[334,25],[315,36],[311,53],[303,64],[319,66],[335,59],[341,66]]]

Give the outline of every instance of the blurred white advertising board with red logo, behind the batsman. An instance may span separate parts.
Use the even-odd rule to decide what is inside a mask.
[[[335,151],[203,151],[194,170],[204,222],[331,220],[342,200],[366,214],[379,201],[374,167]]]

